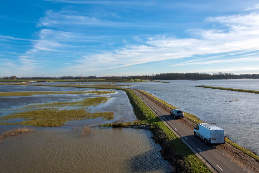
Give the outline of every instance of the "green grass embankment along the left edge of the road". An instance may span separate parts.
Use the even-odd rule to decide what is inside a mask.
[[[132,125],[150,124],[154,140],[162,146],[161,153],[173,166],[175,172],[211,172],[210,169],[178,138],[143,101],[129,89],[127,93],[134,113],[139,120]],[[125,123],[129,125],[129,123]],[[112,126],[112,125],[110,125]]]

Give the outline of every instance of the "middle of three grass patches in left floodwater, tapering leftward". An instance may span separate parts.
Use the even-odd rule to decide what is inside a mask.
[[[97,106],[101,103],[106,103],[111,97],[93,97],[93,98],[86,98],[83,101],[71,101],[71,102],[53,102],[53,103],[46,103],[46,104],[34,104],[28,105],[27,108],[51,108],[51,107],[64,107],[64,106],[81,106],[81,107],[88,107],[88,106]]]

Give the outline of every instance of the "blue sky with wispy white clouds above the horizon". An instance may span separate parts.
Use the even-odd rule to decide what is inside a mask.
[[[0,1],[0,76],[259,73],[259,3]]]

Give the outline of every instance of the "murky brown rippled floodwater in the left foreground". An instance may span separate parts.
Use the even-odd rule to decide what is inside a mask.
[[[0,143],[0,172],[170,172],[151,131],[37,128]]]

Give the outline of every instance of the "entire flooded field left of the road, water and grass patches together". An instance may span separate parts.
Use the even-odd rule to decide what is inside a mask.
[[[170,172],[150,131],[98,127],[136,120],[124,91],[2,85],[0,92],[0,133],[34,129],[0,141],[0,172]],[[104,112],[112,116],[98,116]]]

